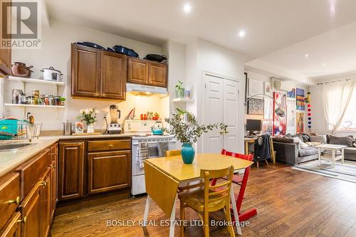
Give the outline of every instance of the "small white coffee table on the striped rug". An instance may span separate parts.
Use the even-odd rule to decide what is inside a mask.
[[[318,148],[319,166],[321,166],[321,159],[326,159],[330,161],[333,167],[335,167],[335,162],[339,159],[341,160],[341,164],[344,164],[345,147],[347,146],[337,144],[322,144],[320,146],[317,146],[316,148]],[[328,152],[329,154],[323,154],[323,152]]]

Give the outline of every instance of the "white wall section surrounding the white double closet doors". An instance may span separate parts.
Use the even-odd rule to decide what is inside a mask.
[[[215,43],[198,38],[187,46],[187,84],[192,85],[194,103],[187,105],[187,110],[197,115],[202,122],[204,107],[203,98],[203,74],[204,72],[221,75],[232,80],[239,81],[240,91],[245,88],[244,82],[244,55],[229,48],[218,46]],[[244,121],[244,94],[240,93],[240,117]],[[236,144],[239,152],[243,152],[244,123],[240,122],[239,144]],[[198,152],[202,152],[201,139],[197,144]]]

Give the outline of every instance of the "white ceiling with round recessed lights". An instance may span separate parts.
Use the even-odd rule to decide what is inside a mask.
[[[355,0],[46,1],[51,19],[155,45],[195,36],[298,74],[356,70]]]

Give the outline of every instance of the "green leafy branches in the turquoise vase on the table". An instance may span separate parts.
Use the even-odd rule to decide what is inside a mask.
[[[186,121],[184,121],[186,117]],[[174,135],[180,142],[197,142],[198,138],[206,132],[214,129],[226,130],[227,125],[214,123],[211,125],[199,125],[197,117],[192,113],[177,109],[172,117],[164,119],[169,123],[169,129],[163,128],[164,132]]]

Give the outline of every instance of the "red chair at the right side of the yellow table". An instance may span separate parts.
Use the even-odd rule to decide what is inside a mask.
[[[249,161],[253,160],[253,154],[239,154],[234,152],[228,152],[226,151],[226,149],[222,149],[221,154],[225,154],[227,156],[236,157],[240,159],[247,159]],[[244,174],[234,174],[234,177],[232,178],[234,184],[239,184],[241,186],[239,193],[235,193],[236,209],[237,212],[239,213],[239,221],[246,221],[248,218],[251,218],[252,216],[255,216],[257,214],[256,209],[249,209],[247,211],[244,211],[243,213],[241,213],[240,211],[242,200],[244,199],[245,189],[247,185],[248,175],[250,174],[250,170],[251,170],[251,166],[245,169]],[[215,184],[216,184],[216,179],[213,179],[211,181],[211,186],[214,186]],[[233,216],[234,214],[232,211],[231,211],[231,215],[233,221],[235,221],[235,218]]]

